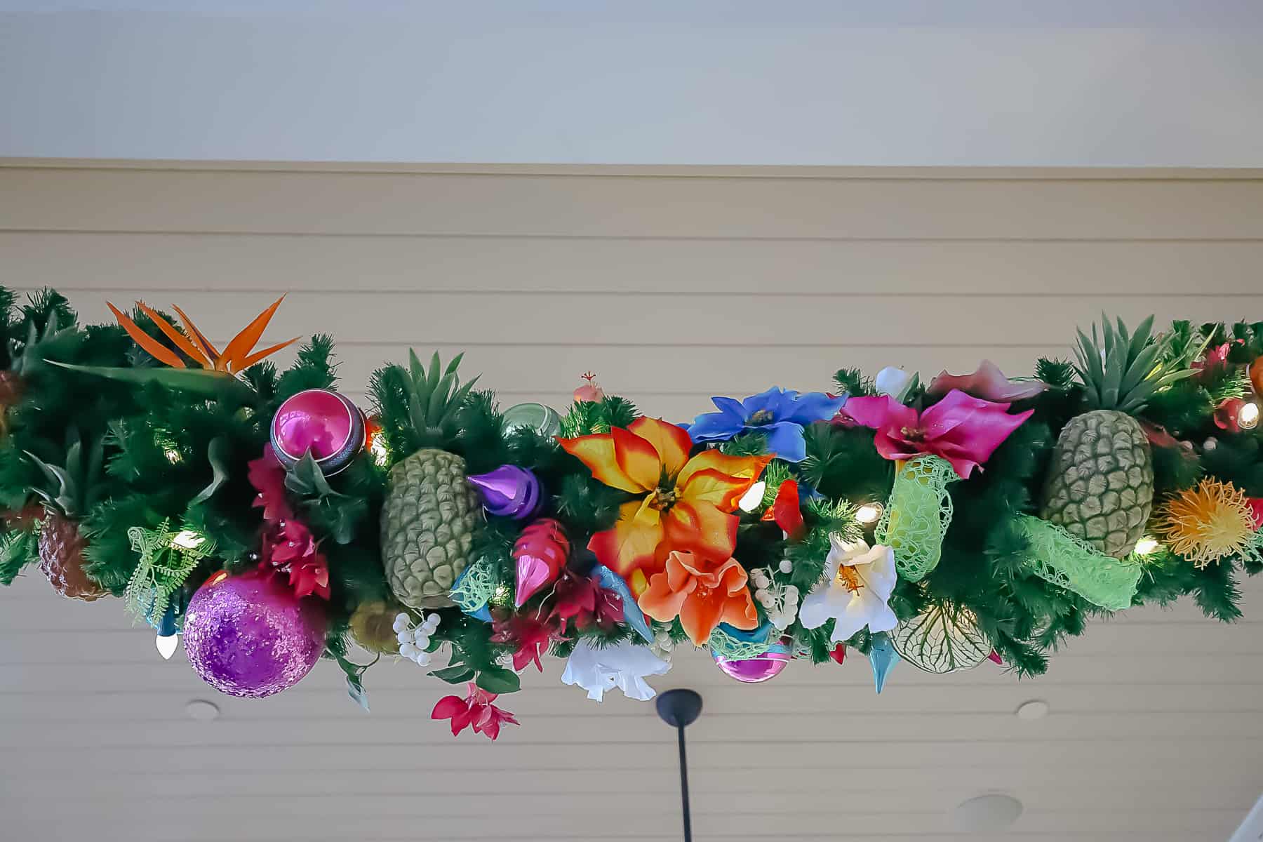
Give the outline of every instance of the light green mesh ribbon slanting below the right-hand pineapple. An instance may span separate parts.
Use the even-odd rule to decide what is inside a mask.
[[[1031,567],[1037,576],[1108,611],[1132,605],[1143,571],[1138,560],[1105,555],[1047,520],[1018,515],[1015,523],[1031,543]]]

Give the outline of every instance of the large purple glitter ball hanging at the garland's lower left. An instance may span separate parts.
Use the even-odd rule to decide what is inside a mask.
[[[293,687],[325,650],[325,610],[273,576],[220,571],[184,614],[184,651],[207,684],[241,698]]]

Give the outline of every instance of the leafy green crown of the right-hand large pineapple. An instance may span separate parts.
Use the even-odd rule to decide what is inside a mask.
[[[1128,333],[1123,319],[1115,324],[1103,313],[1100,333],[1095,324],[1090,338],[1076,331],[1075,372],[1084,382],[1084,399],[1091,409],[1135,413],[1153,393],[1194,374],[1192,369],[1172,370],[1163,362],[1168,346],[1153,338],[1152,316],[1134,333]]]

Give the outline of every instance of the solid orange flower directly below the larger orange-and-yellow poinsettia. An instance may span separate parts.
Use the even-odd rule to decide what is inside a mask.
[[[667,555],[667,569],[649,579],[649,590],[640,595],[639,605],[662,622],[679,617],[695,646],[710,640],[721,622],[745,630],[759,625],[745,587],[745,571],[735,558],[715,563],[692,553],[672,552]]]

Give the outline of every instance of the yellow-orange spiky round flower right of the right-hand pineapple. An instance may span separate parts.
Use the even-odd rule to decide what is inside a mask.
[[[1158,534],[1197,568],[1247,552],[1254,538],[1249,500],[1230,482],[1202,480],[1168,499],[1157,515]]]

